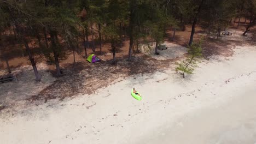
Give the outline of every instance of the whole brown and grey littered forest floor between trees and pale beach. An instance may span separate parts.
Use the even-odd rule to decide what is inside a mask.
[[[129,50],[129,41],[124,41],[123,47],[117,53],[117,64],[112,64],[112,53],[110,53],[109,44],[103,45],[103,55],[97,55],[103,61],[90,64],[81,55],[76,53],[76,63],[73,64],[73,55],[71,52],[66,59],[61,61],[61,68],[64,75],[56,78],[54,76],[54,65],[46,63],[42,56],[38,57],[38,70],[42,75],[42,81],[34,81],[33,69],[29,65],[28,59],[24,57],[14,57],[9,63],[13,73],[18,77],[18,82],[2,83],[0,87],[0,106],[9,109],[17,107],[25,107],[34,103],[35,105],[43,104],[49,99],[63,100],[66,97],[75,97],[79,94],[97,93],[97,89],[107,87],[115,82],[120,82],[127,76],[137,74],[153,74],[156,71],[163,71],[172,67],[176,61],[183,59],[190,36],[190,28],[186,27],[186,31],[177,31],[176,40],[172,41],[172,31],[168,31],[168,37],[165,43],[167,50],[161,51],[160,55],[153,55],[152,51],[148,53],[133,53],[132,61],[127,61],[127,51]],[[241,29],[231,28],[233,32],[230,36],[224,36],[220,39],[210,37],[205,39],[203,43],[203,56],[208,59],[213,56],[230,57],[233,54],[232,47],[235,45],[250,45],[254,33],[249,33],[248,37],[241,36]],[[201,35],[205,35],[200,27],[196,28],[194,39],[200,39]],[[241,41],[243,41],[241,43]],[[142,51],[142,50],[141,50]],[[89,53],[92,51],[89,50]],[[96,52],[98,53],[98,51]],[[41,57],[41,58],[40,58]],[[4,68],[4,65],[2,65]],[[0,70],[0,74],[6,73]],[[24,105],[24,103],[27,103]],[[12,107],[12,108],[11,108]]]

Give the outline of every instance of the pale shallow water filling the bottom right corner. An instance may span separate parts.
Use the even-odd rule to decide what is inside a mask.
[[[137,143],[255,143],[256,90],[228,93],[234,97],[224,103],[186,113],[172,125],[159,127],[160,133],[148,134]]]

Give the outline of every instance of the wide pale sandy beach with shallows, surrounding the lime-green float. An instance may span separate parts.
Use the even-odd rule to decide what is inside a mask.
[[[172,68],[6,113],[1,143],[255,143],[256,46],[234,51],[203,61],[185,80]]]

